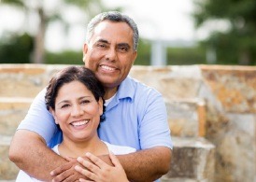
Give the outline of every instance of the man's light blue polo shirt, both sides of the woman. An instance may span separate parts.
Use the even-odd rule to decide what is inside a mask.
[[[40,91],[25,119],[18,127],[40,134],[54,147],[62,133],[45,105],[46,90]],[[113,100],[107,105],[106,120],[98,130],[102,140],[113,145],[135,147],[173,147],[162,95],[131,77],[122,81]]]

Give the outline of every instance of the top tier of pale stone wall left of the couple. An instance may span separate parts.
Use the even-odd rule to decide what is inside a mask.
[[[46,87],[50,77],[67,65],[0,64],[1,97],[32,97]]]

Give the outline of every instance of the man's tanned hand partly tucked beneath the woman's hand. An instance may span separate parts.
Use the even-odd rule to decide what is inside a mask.
[[[74,158],[65,158],[67,163],[56,168],[50,172],[50,175],[53,177],[52,181],[78,181],[79,178],[86,178],[84,175],[81,175],[75,170],[75,166],[78,166],[79,163]]]

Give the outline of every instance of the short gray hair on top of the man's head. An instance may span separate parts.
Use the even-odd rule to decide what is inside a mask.
[[[127,15],[121,14],[118,11],[108,11],[108,12],[103,12],[98,15],[96,15],[89,23],[87,26],[87,34],[86,34],[86,42],[89,43],[95,26],[101,22],[101,21],[115,21],[115,22],[126,22],[133,30],[134,35],[133,35],[133,40],[134,40],[134,50],[137,50],[138,47],[138,30],[137,30],[137,25],[135,24],[135,21],[128,17]]]

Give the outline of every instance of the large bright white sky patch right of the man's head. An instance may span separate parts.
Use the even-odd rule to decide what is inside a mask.
[[[105,1],[106,5],[125,7],[124,13],[134,18],[143,36],[168,40],[194,38],[192,0]]]

